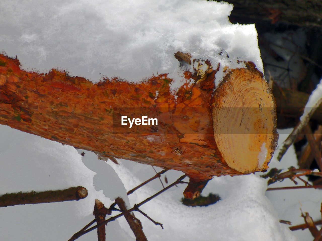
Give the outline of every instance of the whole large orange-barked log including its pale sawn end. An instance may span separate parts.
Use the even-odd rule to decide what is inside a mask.
[[[252,63],[227,69],[213,91],[219,68],[209,60],[192,62],[208,69],[185,72],[195,84],[172,94],[167,74],[140,84],[93,84],[54,69],[26,72],[17,59],[0,55],[0,124],[100,156],[182,171],[197,183],[187,196],[198,195],[191,187],[212,176],[265,171],[277,135],[276,107],[263,75]],[[140,122],[146,116],[148,125],[129,128],[122,116]]]

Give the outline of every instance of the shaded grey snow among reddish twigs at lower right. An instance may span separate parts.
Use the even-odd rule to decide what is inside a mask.
[[[275,154],[278,153],[279,147],[283,144],[283,141],[288,137],[292,130],[292,128],[278,130],[279,140]],[[276,156],[277,155],[274,155],[270,161],[270,168],[276,167],[278,169],[283,169],[282,172],[287,171],[291,166],[298,168],[297,156],[293,145],[289,147],[288,151],[282,157],[280,162],[276,159]],[[256,175],[260,174],[258,173]],[[308,181],[306,176],[301,176],[301,178],[305,181]],[[298,185],[304,185],[304,183],[300,182],[299,180],[297,181]],[[269,187],[273,188],[289,186],[295,186],[295,184],[290,179],[284,179],[282,182],[273,183]],[[278,190],[268,191],[265,195],[269,198],[274,206],[274,209],[279,214],[279,219],[291,221],[292,225],[304,223],[304,219],[301,217],[301,210],[303,212],[308,212],[314,221],[321,219],[320,209],[322,195],[319,190],[315,190],[313,188]],[[293,231],[293,235],[295,235],[298,240],[313,240],[313,237],[308,229]]]

